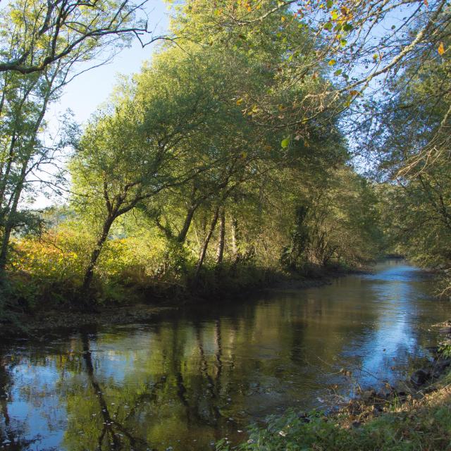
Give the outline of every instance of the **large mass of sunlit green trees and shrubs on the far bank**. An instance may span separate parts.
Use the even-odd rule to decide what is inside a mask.
[[[220,7],[177,7],[178,47],[161,47],[80,137],[70,134],[68,218],[13,240],[11,278],[47,287],[21,297],[47,296],[63,280],[84,302],[165,285],[240,291],[286,268],[359,266],[378,253],[373,186],[348,166],[330,112],[333,69],[310,71],[313,30],[281,8],[244,32],[216,34]]]

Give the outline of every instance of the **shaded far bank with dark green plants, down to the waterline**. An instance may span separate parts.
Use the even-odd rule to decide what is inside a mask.
[[[49,330],[156,321],[181,307],[221,304],[271,288],[305,288],[350,273],[345,266],[287,272],[253,265],[204,268],[194,279],[97,279],[89,299],[80,297],[80,281],[13,275],[3,291],[0,337],[41,336]],[[88,306],[88,307],[87,307]]]

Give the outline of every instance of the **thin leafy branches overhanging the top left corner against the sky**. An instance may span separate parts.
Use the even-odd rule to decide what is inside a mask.
[[[15,0],[1,11],[0,72],[42,72],[70,54],[117,49],[147,38],[143,6],[131,1]],[[140,18],[140,16],[142,16]]]

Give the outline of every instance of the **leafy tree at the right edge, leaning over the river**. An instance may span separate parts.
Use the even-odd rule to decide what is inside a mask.
[[[444,47],[449,42],[445,39]],[[448,267],[451,66],[432,45],[422,51],[430,57],[428,64],[409,61],[389,84],[390,100],[364,123],[366,149],[382,182],[382,216],[391,247],[423,266]]]

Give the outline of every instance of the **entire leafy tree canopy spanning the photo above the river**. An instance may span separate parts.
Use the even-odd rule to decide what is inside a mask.
[[[130,287],[209,292],[384,252],[448,264],[449,6],[171,5],[171,39],[47,145],[49,103],[82,61],[141,39],[142,7],[2,11],[3,280],[27,274],[37,292],[87,306]],[[68,144],[68,202],[23,209]]]

